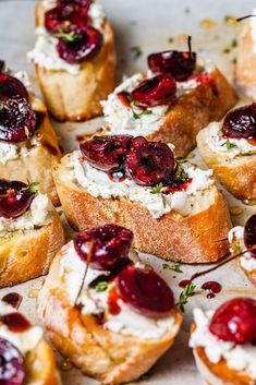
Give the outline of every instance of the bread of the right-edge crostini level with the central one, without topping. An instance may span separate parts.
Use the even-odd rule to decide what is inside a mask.
[[[231,194],[240,200],[256,198],[256,155],[241,155],[230,159],[224,153],[210,148],[208,136],[208,128],[197,135],[197,145],[207,166]]]

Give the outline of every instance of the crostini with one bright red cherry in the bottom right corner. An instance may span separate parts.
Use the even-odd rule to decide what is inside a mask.
[[[194,311],[190,346],[209,385],[255,385],[256,301],[235,298],[216,312]]]

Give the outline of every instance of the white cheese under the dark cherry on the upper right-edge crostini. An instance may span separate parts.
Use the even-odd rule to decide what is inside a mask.
[[[221,153],[228,159],[236,158],[241,155],[253,155],[256,154],[256,146],[249,143],[246,139],[229,139],[231,145],[234,147],[227,148],[227,139],[223,137],[221,132],[221,123],[212,122],[207,127],[207,144],[215,153]]]

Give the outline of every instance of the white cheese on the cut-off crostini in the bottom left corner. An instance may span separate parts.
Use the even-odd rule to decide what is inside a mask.
[[[15,309],[0,302],[0,315],[15,313]],[[29,329],[21,333],[14,333],[4,324],[0,325],[0,338],[11,342],[21,353],[25,356],[35,349],[42,337],[42,329],[38,326],[32,326]]]

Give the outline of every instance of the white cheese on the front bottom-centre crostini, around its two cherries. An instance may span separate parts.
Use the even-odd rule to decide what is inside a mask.
[[[60,266],[60,276],[65,281],[68,298],[73,305],[83,281],[84,272],[87,268],[86,263],[77,255],[73,241],[61,250]],[[78,298],[78,302],[83,304],[83,314],[97,315],[107,312],[103,328],[123,335],[133,335],[142,339],[161,338],[167,333],[175,333],[178,326],[174,323],[174,317],[170,317],[170,315],[167,317],[147,317],[133,311],[121,299],[118,300],[121,309],[120,313],[117,315],[110,314],[108,312],[108,294],[113,288],[112,284],[108,285],[107,290],[99,292],[88,287],[95,278],[102,274],[102,270],[87,268],[85,284]]]

